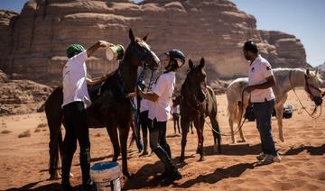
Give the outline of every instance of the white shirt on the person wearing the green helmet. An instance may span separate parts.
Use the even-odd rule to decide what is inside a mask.
[[[87,68],[85,60],[88,58],[87,50],[70,58],[65,64],[63,75],[63,104],[68,105],[71,102],[81,101],[85,108],[91,105],[87,89]]]

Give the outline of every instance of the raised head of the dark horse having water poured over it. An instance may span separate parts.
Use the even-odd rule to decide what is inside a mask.
[[[145,42],[148,34],[144,38],[135,37],[132,29],[129,30],[130,43],[125,50],[125,57],[132,60],[135,67],[144,67],[156,70],[159,67],[160,60],[151,50],[151,47]],[[126,59],[126,58],[125,58]]]

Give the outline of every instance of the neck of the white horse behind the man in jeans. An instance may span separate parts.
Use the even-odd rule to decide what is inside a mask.
[[[304,72],[302,70],[298,70],[298,69],[289,70],[286,76],[287,77],[285,77],[285,81],[280,82],[280,86],[283,86],[284,92],[288,92],[292,90],[292,87],[305,86]]]

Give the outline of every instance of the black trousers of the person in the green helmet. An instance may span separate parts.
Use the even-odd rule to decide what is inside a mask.
[[[63,141],[62,182],[69,182],[71,162],[73,154],[77,149],[78,140],[82,184],[87,185],[90,182],[90,141],[87,115],[83,103],[72,102],[64,105],[63,116],[66,134]]]

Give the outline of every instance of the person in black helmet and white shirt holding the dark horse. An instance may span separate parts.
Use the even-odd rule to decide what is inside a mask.
[[[158,77],[153,90],[139,95],[150,102],[148,125],[150,131],[150,146],[165,166],[166,176],[163,182],[181,179],[181,173],[172,164],[172,153],[166,141],[166,124],[171,111],[170,102],[175,86],[176,70],[185,62],[185,55],[181,50],[170,50],[164,53],[163,67],[165,71]]]

